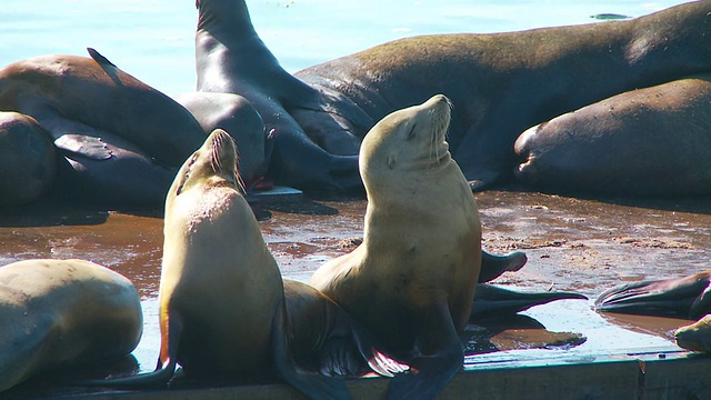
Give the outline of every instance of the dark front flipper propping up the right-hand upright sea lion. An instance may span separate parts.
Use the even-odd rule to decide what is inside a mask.
[[[464,349],[444,301],[418,312],[410,371],[392,379],[388,399],[433,399],[461,370]]]

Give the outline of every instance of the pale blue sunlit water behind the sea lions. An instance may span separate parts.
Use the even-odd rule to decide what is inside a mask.
[[[408,36],[500,32],[630,17],[683,1],[253,0],[258,33],[282,66],[302,68]],[[194,88],[194,0],[26,0],[0,9],[0,66],[93,47],[168,94]]]

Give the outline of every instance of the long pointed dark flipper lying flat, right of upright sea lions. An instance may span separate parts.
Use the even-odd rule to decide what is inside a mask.
[[[533,306],[545,304],[555,300],[588,300],[583,294],[573,292],[520,292],[503,289],[494,284],[479,283],[474,291],[474,303],[469,319],[489,316],[514,314]]]

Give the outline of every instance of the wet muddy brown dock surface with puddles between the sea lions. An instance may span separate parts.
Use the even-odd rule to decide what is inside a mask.
[[[517,290],[575,291],[590,300],[564,300],[512,319],[477,321],[462,336],[469,368],[680,351],[671,332],[687,321],[598,314],[592,302],[622,282],[710,268],[711,200],[600,201],[520,191],[488,191],[477,198],[483,248],[494,253],[521,250],[529,257],[523,269],[494,283]],[[286,278],[308,280],[322,262],[360,243],[363,200],[262,196],[254,204]],[[133,352],[141,371],[151,370],[158,354],[161,247],[160,210],[36,206],[0,214],[0,264],[80,258],[134,282],[146,314],[143,339]]]

